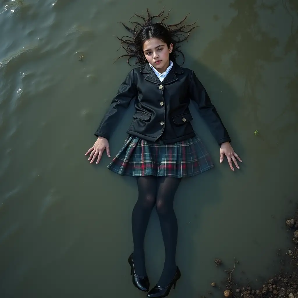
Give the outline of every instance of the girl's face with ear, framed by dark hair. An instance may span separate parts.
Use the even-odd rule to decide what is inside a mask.
[[[147,61],[155,67],[160,73],[166,71],[170,65],[170,53],[173,50],[173,44],[167,47],[167,44],[158,38],[147,39],[143,44],[143,52]]]

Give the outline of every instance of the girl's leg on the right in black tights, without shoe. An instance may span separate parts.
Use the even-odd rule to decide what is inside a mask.
[[[176,246],[178,226],[173,201],[180,181],[181,178],[157,178],[156,211],[159,216],[165,250],[164,268],[157,283],[159,286],[168,285],[177,270]]]

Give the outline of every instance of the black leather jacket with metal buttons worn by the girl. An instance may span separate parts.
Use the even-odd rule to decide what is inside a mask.
[[[218,144],[230,142],[226,128],[195,73],[175,62],[162,83],[149,63],[132,69],[95,135],[109,139],[123,116],[122,110],[134,100],[136,112],[128,134],[153,142],[162,138],[164,144],[191,138],[195,132],[190,123],[193,120],[188,108],[190,99],[198,104],[199,112]]]

